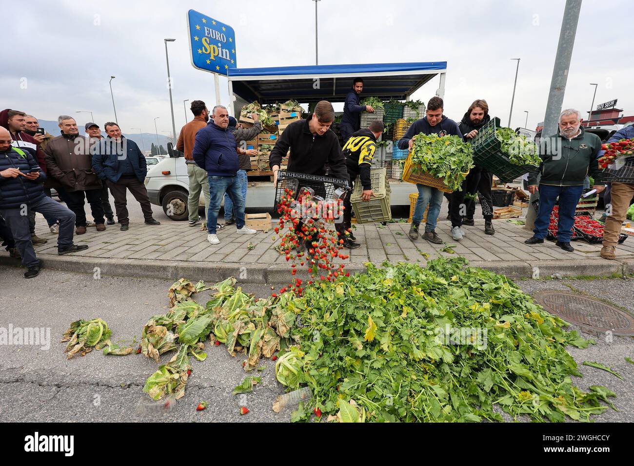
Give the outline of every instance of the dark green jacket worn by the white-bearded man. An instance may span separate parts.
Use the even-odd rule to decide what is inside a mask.
[[[546,141],[541,139],[541,164],[529,173],[529,186],[537,184],[538,174],[541,174],[541,184],[551,186],[579,186],[588,175],[594,178],[595,184],[602,179],[603,171],[597,162],[601,139],[596,134],[586,133],[583,127],[580,129],[581,133],[570,140],[559,131]]]

